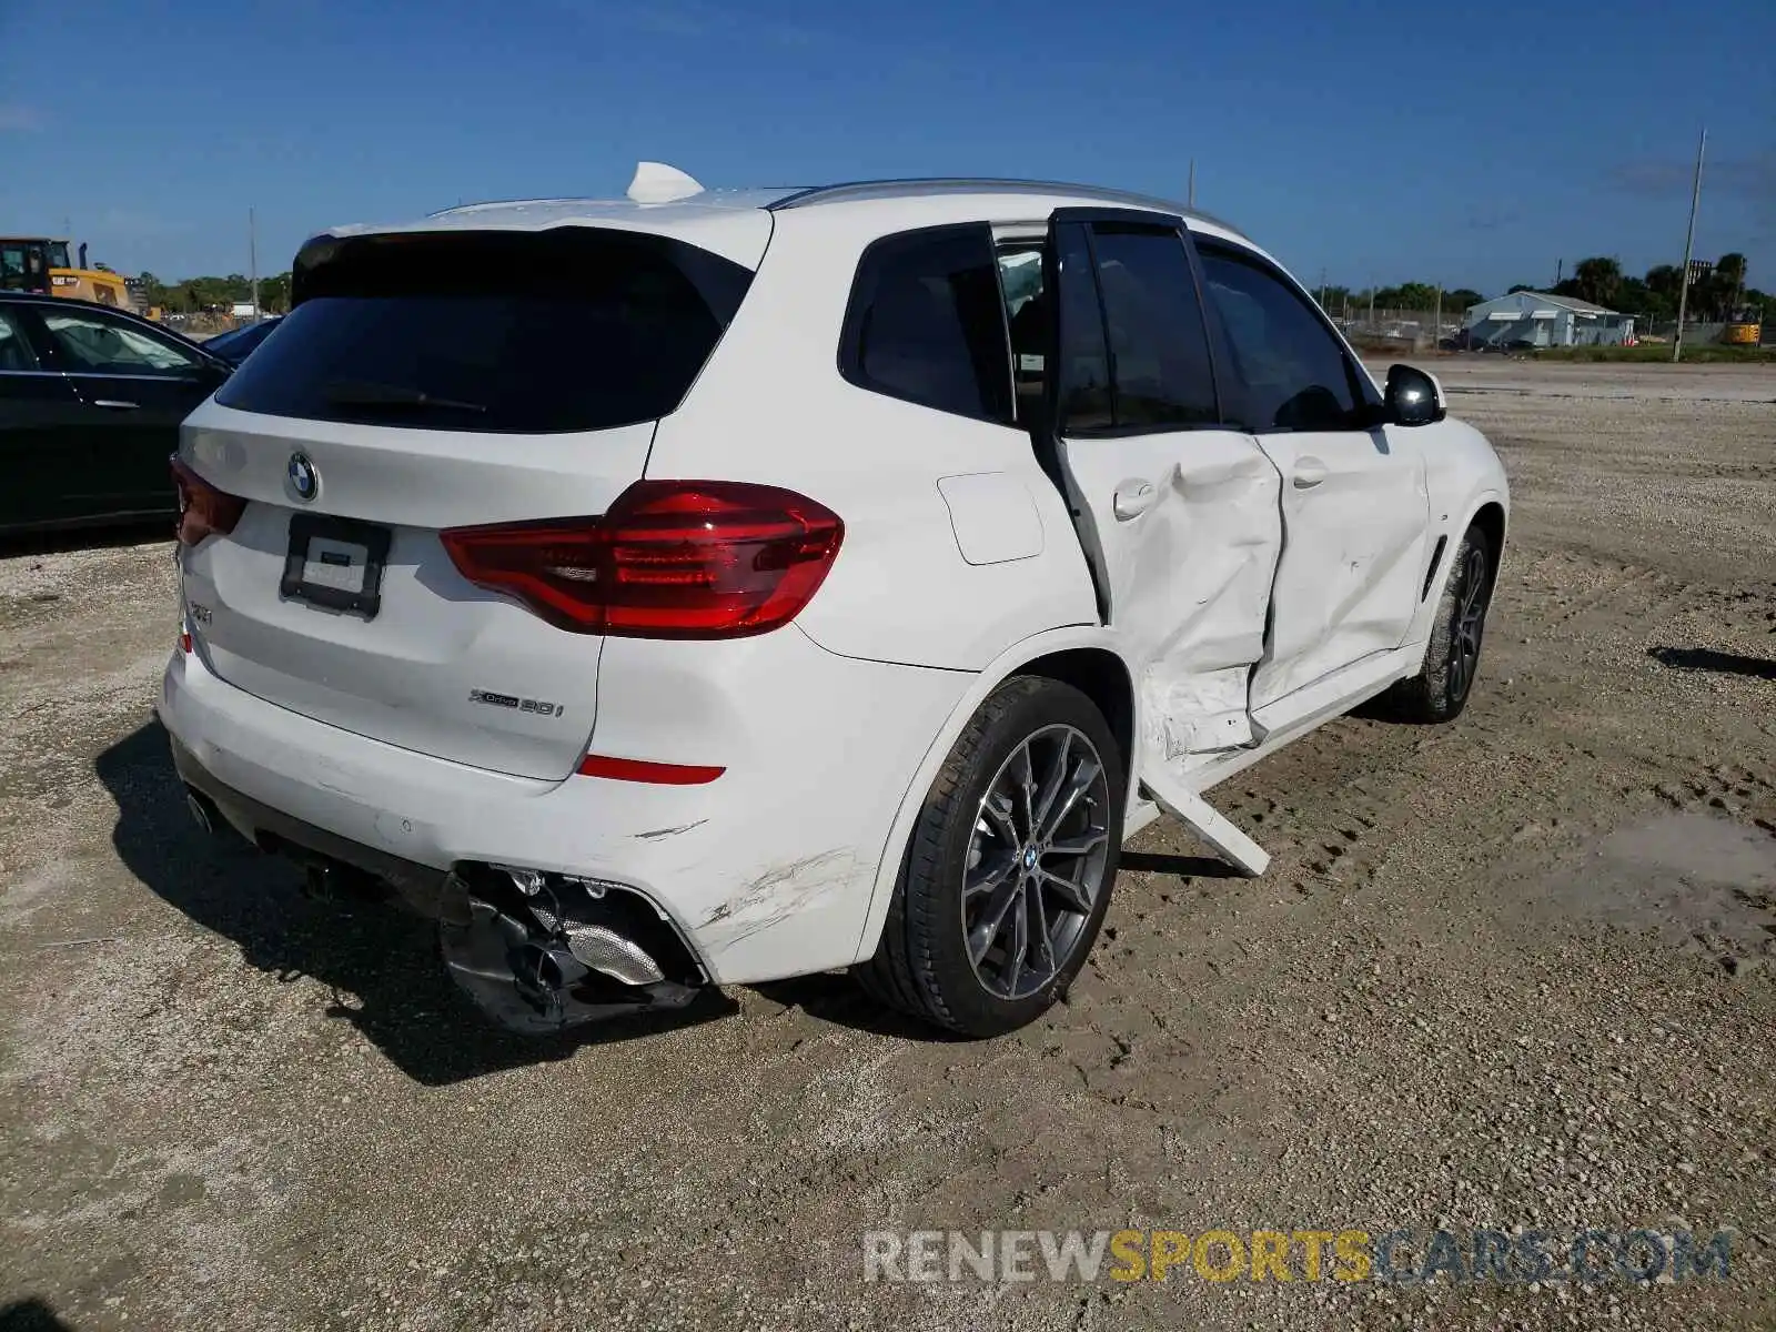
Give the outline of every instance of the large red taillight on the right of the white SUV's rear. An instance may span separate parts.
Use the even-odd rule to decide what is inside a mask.
[[[838,556],[845,524],[792,490],[636,481],[602,519],[440,533],[471,583],[552,625],[620,638],[744,638],[789,623]]]

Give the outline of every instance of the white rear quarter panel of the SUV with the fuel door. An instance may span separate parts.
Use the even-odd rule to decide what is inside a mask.
[[[929,215],[908,227],[920,224]],[[881,208],[780,213],[751,291],[661,421],[646,471],[780,485],[826,504],[845,522],[844,545],[796,623],[840,655],[977,671],[1044,629],[1096,623],[1096,595],[1027,432],[838,373],[858,259],[897,229]]]

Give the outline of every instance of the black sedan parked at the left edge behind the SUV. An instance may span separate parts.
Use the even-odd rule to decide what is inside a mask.
[[[176,513],[179,423],[231,371],[110,305],[0,293],[0,531]]]

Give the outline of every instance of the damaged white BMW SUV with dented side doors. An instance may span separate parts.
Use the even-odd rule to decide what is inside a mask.
[[[852,968],[989,1035],[1160,810],[1456,716],[1504,471],[1238,231],[1016,181],[343,227],[185,424],[194,812],[392,886],[503,1023]]]

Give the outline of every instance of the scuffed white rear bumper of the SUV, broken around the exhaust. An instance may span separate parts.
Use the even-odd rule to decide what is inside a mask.
[[[613,639],[600,693],[632,678],[659,694],[682,654],[710,646]],[[424,915],[460,909],[451,870],[517,865],[622,884],[718,984],[849,966],[874,947],[863,927],[900,797],[971,677],[836,657],[796,629],[725,666],[714,703],[746,718],[744,735],[721,737],[728,773],[696,787],[545,781],[400,749],[236,689],[201,652],[172,654],[160,716],[183,780],[249,840],[375,874]],[[702,723],[707,744],[721,726]]]

